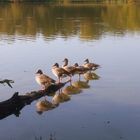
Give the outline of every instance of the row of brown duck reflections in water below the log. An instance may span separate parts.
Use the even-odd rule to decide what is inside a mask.
[[[52,96],[51,101],[48,101],[47,99],[38,101],[36,103],[37,113],[42,114],[45,111],[58,107],[60,103],[70,101],[70,95],[79,94],[83,89],[90,88],[89,81],[98,80],[100,76],[94,72],[86,72],[83,74],[83,78],[85,80],[74,81],[71,83],[71,85],[65,86],[58,92],[49,94],[48,96]]]

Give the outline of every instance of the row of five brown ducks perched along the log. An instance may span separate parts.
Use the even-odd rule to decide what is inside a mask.
[[[96,70],[100,67],[100,65],[90,62],[89,59],[86,59],[81,66],[79,66],[78,63],[70,66],[68,58],[65,58],[63,63],[62,67],[60,67],[58,63],[52,66],[52,73],[57,77],[58,82],[44,74],[41,69],[36,72],[35,80],[42,87],[42,90],[46,90],[51,84],[62,82],[64,77],[69,77],[71,81],[72,77],[78,74],[80,79],[81,74]]]

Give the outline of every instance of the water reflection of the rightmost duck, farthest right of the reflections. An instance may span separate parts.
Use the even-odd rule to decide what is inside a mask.
[[[99,80],[100,78],[100,76],[98,76],[94,72],[86,72],[85,74],[83,74],[83,77],[85,80]]]

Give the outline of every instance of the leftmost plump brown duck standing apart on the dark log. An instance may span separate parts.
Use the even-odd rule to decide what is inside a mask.
[[[51,77],[43,74],[43,71],[41,69],[39,69],[36,72],[35,75],[35,80],[36,82],[41,85],[42,90],[45,90],[48,88],[49,85],[54,84],[56,81],[54,79],[52,79]]]

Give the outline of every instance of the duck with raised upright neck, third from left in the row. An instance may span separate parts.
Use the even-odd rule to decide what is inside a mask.
[[[75,72],[76,72],[76,67],[74,67],[74,66],[68,66],[68,61],[69,60],[67,58],[65,58],[63,60],[64,64],[62,65],[62,68],[65,69],[67,72],[71,73],[72,75],[74,75]]]

